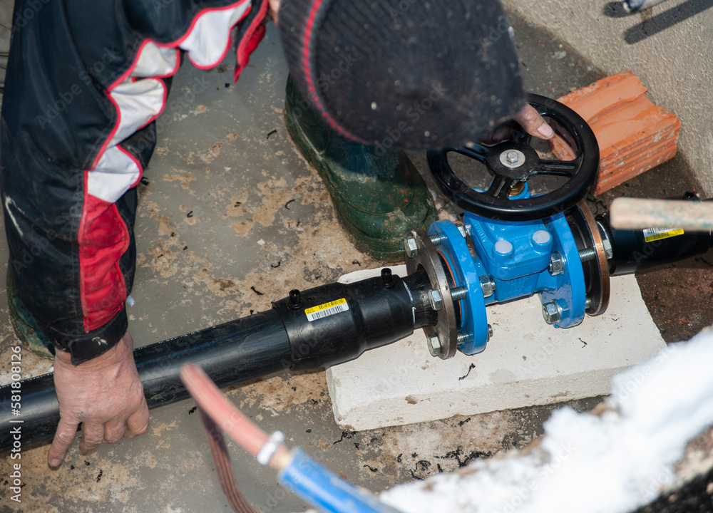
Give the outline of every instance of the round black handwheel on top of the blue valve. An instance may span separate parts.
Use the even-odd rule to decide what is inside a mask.
[[[446,147],[431,150],[427,157],[431,173],[443,194],[468,212],[501,221],[531,221],[564,212],[583,199],[597,176],[599,145],[594,132],[583,118],[566,105],[545,96],[528,94],[528,103],[543,117],[553,120],[555,132],[575,151],[573,160],[541,159],[530,146],[531,136],[518,123],[511,123],[510,140],[488,146]],[[560,132],[563,130],[564,133]],[[493,175],[485,192],[468,186],[448,164],[448,153],[456,152],[482,162]],[[527,199],[510,199],[514,187],[532,177],[566,177],[560,187]]]

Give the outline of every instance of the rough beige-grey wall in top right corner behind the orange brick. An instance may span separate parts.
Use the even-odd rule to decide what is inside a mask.
[[[713,197],[713,8],[706,9],[713,1],[669,0],[632,16],[612,11],[610,5],[620,2],[502,1],[605,73],[633,71],[650,100],[681,120],[679,152],[704,195]]]

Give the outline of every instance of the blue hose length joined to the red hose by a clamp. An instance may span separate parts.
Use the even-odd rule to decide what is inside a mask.
[[[400,513],[376,497],[342,480],[295,447],[292,462],[277,476],[279,482],[327,513]]]

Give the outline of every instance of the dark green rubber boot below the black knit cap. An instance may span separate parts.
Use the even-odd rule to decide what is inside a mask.
[[[362,253],[384,261],[404,259],[404,237],[436,221],[426,183],[404,152],[376,154],[319,121],[287,78],[284,119],[302,156],[317,169],[337,217]]]

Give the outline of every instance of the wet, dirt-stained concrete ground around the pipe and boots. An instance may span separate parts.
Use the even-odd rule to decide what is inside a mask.
[[[568,46],[515,16],[510,20],[529,90],[556,98],[602,77]],[[326,284],[377,265],[349,242],[322,182],[287,138],[282,119],[287,67],[273,26],[237,85],[231,75],[229,60],[207,72],[185,64],[158,122],[158,147],[139,185],[135,305],[128,307],[139,345],[269,309],[270,301],[289,289]],[[191,93],[192,86],[200,92]],[[426,174],[424,157],[413,158]],[[696,187],[691,176],[676,159],[607,193],[593,208],[603,208],[615,195],[679,195]],[[443,215],[458,215],[436,198]],[[0,247],[0,261],[6,251]],[[709,262],[713,258],[692,259],[640,278],[667,341],[688,338],[713,322]],[[0,337],[1,358],[12,337],[4,302]],[[27,355],[24,362],[26,373],[51,365]],[[324,371],[277,375],[232,388],[228,395],[265,430],[286,432],[290,444],[374,491],[522,447],[541,433],[556,407],[342,432],[332,417]],[[599,400],[570,405],[588,410]],[[75,443],[56,471],[46,465],[48,446],[25,450],[23,502],[9,504],[3,487],[0,511],[230,511],[193,406],[185,400],[153,410],[146,435],[104,445],[88,456],[80,455]],[[237,479],[261,512],[305,509],[279,487],[272,471],[231,447]],[[0,475],[7,470],[8,461],[0,462]]]

